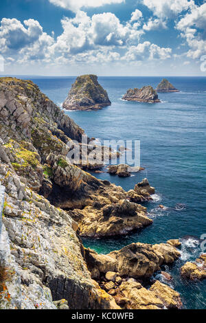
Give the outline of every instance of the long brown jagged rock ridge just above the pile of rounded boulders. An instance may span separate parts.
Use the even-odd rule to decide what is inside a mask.
[[[119,273],[119,276],[132,278],[150,278],[160,266],[173,263],[181,254],[168,244],[148,245],[132,243],[110,254],[97,254],[85,249],[87,265],[95,279],[107,271]]]

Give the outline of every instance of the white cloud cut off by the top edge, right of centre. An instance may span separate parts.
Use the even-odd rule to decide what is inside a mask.
[[[177,14],[194,7],[194,1],[190,0],[142,0],[155,16],[161,19],[172,18]]]

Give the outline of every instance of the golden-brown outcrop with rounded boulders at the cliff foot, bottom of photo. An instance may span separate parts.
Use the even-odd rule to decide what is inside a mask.
[[[143,286],[161,265],[173,263],[179,256],[169,244],[133,243],[106,255],[85,249],[92,278],[122,309],[180,309],[179,293],[167,285],[157,280],[150,289]]]

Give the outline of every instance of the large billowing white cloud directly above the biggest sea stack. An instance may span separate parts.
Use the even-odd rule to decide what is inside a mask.
[[[104,12],[91,18],[79,11],[75,18],[62,19],[63,32],[58,36],[54,51],[78,54],[103,46],[122,47],[130,42],[138,43],[141,31],[137,25],[122,24],[115,14]]]

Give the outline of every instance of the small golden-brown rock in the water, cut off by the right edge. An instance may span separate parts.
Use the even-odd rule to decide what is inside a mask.
[[[206,278],[206,254],[195,260],[194,263],[187,262],[181,267],[181,275],[192,280],[201,280]]]

